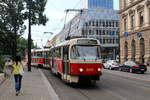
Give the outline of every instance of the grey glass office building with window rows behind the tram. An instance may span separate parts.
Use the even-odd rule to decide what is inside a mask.
[[[103,59],[116,59],[118,55],[119,15],[114,10],[84,9],[59,33],[58,40],[70,37],[88,37],[100,40]]]

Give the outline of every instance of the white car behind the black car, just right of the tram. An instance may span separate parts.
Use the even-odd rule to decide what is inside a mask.
[[[118,70],[119,65],[115,60],[108,60],[106,63],[104,63],[104,68]]]

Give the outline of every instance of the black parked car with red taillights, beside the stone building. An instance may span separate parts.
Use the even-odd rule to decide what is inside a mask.
[[[131,73],[140,72],[144,74],[144,72],[147,71],[147,66],[145,64],[136,63],[134,61],[126,61],[119,64],[119,70]]]

